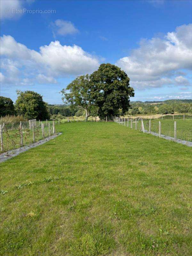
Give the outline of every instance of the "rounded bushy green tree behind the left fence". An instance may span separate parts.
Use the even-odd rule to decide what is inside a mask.
[[[43,97],[33,91],[17,91],[18,98],[15,108],[18,114],[25,116],[27,119],[48,119],[49,113],[47,103]]]

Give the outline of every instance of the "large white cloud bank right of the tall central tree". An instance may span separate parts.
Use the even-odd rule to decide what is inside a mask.
[[[192,24],[182,25],[163,39],[141,40],[140,47],[130,56],[119,59],[116,65],[127,73],[131,85],[137,88],[160,87],[167,82],[175,84],[174,73],[192,67],[191,45]]]

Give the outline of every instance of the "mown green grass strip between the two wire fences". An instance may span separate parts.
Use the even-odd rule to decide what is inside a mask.
[[[192,150],[116,123],[57,126],[1,164],[1,255],[192,255]]]

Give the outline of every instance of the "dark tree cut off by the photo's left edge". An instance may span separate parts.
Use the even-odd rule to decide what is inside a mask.
[[[15,108],[10,98],[0,96],[0,116],[14,115]]]

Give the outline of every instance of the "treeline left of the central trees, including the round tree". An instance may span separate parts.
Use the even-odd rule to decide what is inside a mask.
[[[12,118],[14,121],[23,121],[29,119],[58,119],[62,116],[83,116],[85,115],[82,109],[70,108],[70,106],[52,105],[43,101],[43,97],[33,91],[17,91],[18,98],[15,102],[10,98],[0,96],[0,117],[7,116],[9,122],[10,116],[18,116]],[[24,118],[24,119],[23,119]]]

